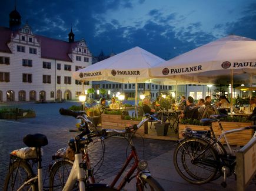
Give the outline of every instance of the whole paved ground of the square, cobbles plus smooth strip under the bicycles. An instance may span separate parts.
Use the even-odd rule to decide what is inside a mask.
[[[27,134],[42,133],[48,138],[48,145],[44,146],[43,167],[44,175],[47,177],[47,167],[52,163],[51,155],[59,148],[67,146],[69,139],[74,138],[77,132],[70,133],[69,129],[75,129],[75,124],[79,120],[71,116],[62,116],[59,114],[59,108],[69,108],[71,105],[79,105],[77,102],[65,103],[47,103],[47,104],[21,104],[12,103],[11,106],[34,109],[36,118],[18,119],[18,120],[3,120],[0,119],[0,190],[4,184],[5,175],[9,164],[8,153],[14,149],[25,147],[22,139]],[[0,107],[4,107],[1,105]],[[7,105],[10,106],[10,105]],[[227,188],[221,187],[222,179],[204,185],[191,185],[183,180],[174,168],[172,162],[175,142],[167,140],[153,140],[141,138],[133,139],[139,153],[139,158],[148,160],[149,170],[152,175],[158,180],[165,190],[236,190],[236,182],[234,176],[227,180]],[[122,138],[109,138],[105,142],[104,162],[99,167],[95,177],[98,181],[110,183],[113,176],[120,169],[122,163],[126,159],[127,141]],[[145,147],[144,147],[144,146]],[[145,151],[145,152],[144,152]],[[144,153],[144,155],[143,155]],[[98,163],[102,158],[101,142],[93,142],[89,145],[89,156],[92,165]],[[95,170],[98,166],[95,167]],[[44,186],[47,186],[46,178]],[[125,187],[125,190],[134,190],[134,187]],[[255,190],[255,185],[248,186],[247,191]]]

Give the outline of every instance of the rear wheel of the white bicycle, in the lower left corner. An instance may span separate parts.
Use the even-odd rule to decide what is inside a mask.
[[[29,180],[31,177],[34,176],[32,172],[31,166],[25,161],[15,161],[9,167],[8,173],[5,179],[4,191],[14,191],[18,190],[19,187],[26,181]],[[38,190],[38,183],[37,181],[32,181],[28,183],[21,190],[27,191],[35,191]]]

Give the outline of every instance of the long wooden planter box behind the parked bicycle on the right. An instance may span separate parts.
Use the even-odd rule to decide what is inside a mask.
[[[245,126],[250,126],[251,123],[242,123],[242,122],[221,122],[222,128],[224,130],[231,130],[237,128],[243,128]],[[199,125],[181,125],[179,124],[179,139],[183,138],[181,135],[182,130],[185,127],[190,127],[192,130],[210,130],[208,126],[199,126]],[[214,130],[215,136],[221,134],[220,126],[218,122],[212,123],[212,129]],[[237,133],[231,133],[227,135],[228,142],[230,145],[245,145],[251,139],[254,131],[252,129],[243,130]],[[225,143],[224,138],[221,139],[221,143]]]

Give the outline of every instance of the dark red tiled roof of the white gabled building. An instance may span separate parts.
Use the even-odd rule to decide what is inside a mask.
[[[18,31],[13,32],[16,36]],[[0,26],[0,52],[12,53],[8,47],[8,43],[11,42],[12,31],[9,28]],[[72,53],[72,50],[78,46],[80,41],[69,43],[67,41],[61,41],[58,39],[48,38],[46,36],[34,35],[41,44],[41,57],[48,59],[56,59],[59,61],[72,62],[68,54]]]

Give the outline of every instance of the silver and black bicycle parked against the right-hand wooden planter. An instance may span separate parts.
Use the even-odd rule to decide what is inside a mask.
[[[224,131],[220,119],[226,116],[211,115],[211,119],[201,119],[203,125],[210,126],[210,132],[185,129],[185,138],[179,140],[174,151],[174,166],[178,174],[187,182],[201,185],[223,175],[224,180],[221,185],[226,187],[227,177],[235,175],[235,151],[231,149],[226,135],[242,130],[255,130],[256,125]],[[212,122],[218,122],[220,126],[221,135],[218,138],[212,129]],[[210,134],[212,136],[209,136]],[[220,142],[221,138],[224,138],[228,150]],[[256,138],[256,132],[251,139],[254,138]]]

